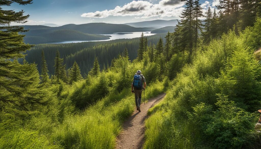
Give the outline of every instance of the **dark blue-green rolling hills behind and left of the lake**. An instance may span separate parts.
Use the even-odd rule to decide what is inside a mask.
[[[25,42],[29,44],[51,43],[70,40],[106,40],[110,39],[105,35],[120,32],[150,32],[153,27],[132,27],[124,24],[108,23],[87,23],[67,24],[59,27],[45,25],[23,25],[29,32],[21,33],[26,35]]]

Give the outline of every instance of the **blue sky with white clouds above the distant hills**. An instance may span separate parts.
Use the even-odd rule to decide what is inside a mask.
[[[214,9],[218,0],[200,0],[200,3],[205,11],[208,6]],[[180,0],[33,0],[33,4],[12,4],[2,8],[15,11],[23,9],[25,14],[30,15],[27,25],[64,25],[179,19],[184,7],[185,2]]]

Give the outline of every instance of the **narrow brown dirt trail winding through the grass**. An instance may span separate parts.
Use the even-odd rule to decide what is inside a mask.
[[[165,96],[165,93],[151,98],[147,103],[141,103],[141,112],[135,111],[122,125],[123,130],[117,136],[116,148],[119,149],[139,149],[144,143],[145,119],[147,118],[147,111],[155,105],[159,100]]]

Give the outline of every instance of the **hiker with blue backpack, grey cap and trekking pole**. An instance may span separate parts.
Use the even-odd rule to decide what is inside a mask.
[[[144,76],[141,74],[141,71],[138,70],[137,73],[134,75],[134,79],[131,84],[131,92],[135,93],[135,103],[136,103],[137,110],[139,110],[139,112],[140,112],[141,93],[142,90],[145,90],[145,88],[146,88],[146,80]]]

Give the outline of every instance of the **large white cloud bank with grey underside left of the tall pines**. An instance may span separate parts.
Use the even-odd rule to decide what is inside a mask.
[[[116,6],[111,10],[83,13],[81,17],[104,18],[108,16],[138,16],[135,18],[179,16],[185,2],[180,0],[161,0],[157,4],[148,1],[132,1],[124,6]]]

